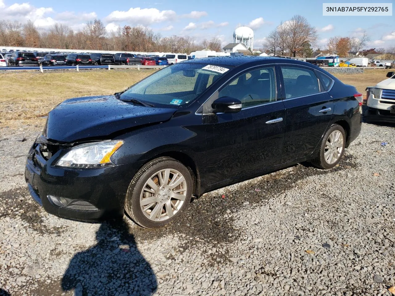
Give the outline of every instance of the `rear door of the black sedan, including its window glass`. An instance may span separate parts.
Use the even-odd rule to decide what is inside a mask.
[[[334,102],[312,68],[280,66],[286,127],[282,162],[313,153],[332,118]]]

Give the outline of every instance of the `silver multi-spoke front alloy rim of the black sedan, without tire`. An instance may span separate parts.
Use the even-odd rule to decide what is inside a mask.
[[[184,204],[187,185],[184,176],[175,169],[163,169],[153,174],[143,186],[140,208],[151,221],[173,217]]]

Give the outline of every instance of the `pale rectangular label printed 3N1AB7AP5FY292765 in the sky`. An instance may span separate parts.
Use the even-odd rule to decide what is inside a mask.
[[[392,3],[323,3],[322,15],[392,15]]]

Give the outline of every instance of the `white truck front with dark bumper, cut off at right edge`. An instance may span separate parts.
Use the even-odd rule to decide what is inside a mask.
[[[395,72],[388,72],[387,77],[366,88],[366,122],[395,122]]]

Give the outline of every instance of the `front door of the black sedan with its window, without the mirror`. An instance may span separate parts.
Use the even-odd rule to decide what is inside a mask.
[[[242,102],[237,113],[206,113],[207,180],[209,184],[242,180],[279,165],[285,132],[285,110],[275,67],[258,67],[236,75],[207,100],[210,110],[219,97]]]

